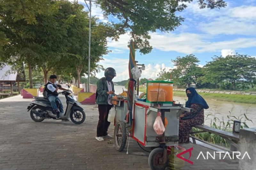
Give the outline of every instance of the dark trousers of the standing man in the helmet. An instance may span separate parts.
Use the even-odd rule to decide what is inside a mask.
[[[110,122],[108,122],[108,113],[112,108],[112,105],[98,105],[99,108],[99,122],[97,126],[97,137],[102,137],[108,135],[108,127]]]

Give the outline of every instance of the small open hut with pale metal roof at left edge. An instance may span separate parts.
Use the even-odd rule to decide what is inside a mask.
[[[20,82],[25,82],[24,68],[21,69],[20,73],[17,70],[12,70],[12,67],[7,64],[3,64],[0,67],[0,92],[10,89],[11,95],[13,92],[13,83],[17,82],[18,91],[20,92]],[[10,84],[9,84],[10,83]]]

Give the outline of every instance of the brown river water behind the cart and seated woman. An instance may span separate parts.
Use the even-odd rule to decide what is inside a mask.
[[[124,86],[115,86],[115,91],[116,94],[119,94],[123,92]],[[124,88],[124,90],[126,90]],[[185,104],[187,98],[184,97],[177,97],[174,96],[173,99],[176,101],[176,103],[181,103]],[[246,114],[246,116],[252,120],[251,121],[246,121],[246,124],[251,128],[251,127],[256,127],[256,105],[254,104],[246,104],[246,103],[236,103],[236,102],[228,102],[228,101],[218,101],[218,100],[211,100],[211,99],[206,99],[207,104],[209,105],[209,109],[204,110],[204,116],[205,116],[205,125],[210,125],[211,120],[213,121],[213,116],[208,116],[207,115],[215,114],[215,117],[219,118],[220,120],[217,120],[216,124],[219,125],[222,120],[224,120],[225,123],[228,121],[228,115],[231,113],[231,116],[238,116],[242,114]],[[229,113],[230,112],[230,113]],[[244,122],[244,116],[241,122]],[[231,118],[235,119],[235,118]]]

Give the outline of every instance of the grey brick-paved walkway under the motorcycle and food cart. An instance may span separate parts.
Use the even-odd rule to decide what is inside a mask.
[[[60,99],[65,106],[65,97],[60,95]],[[134,140],[130,140],[127,155],[126,149],[123,152],[115,150],[113,139],[113,142],[111,139],[104,142],[95,139],[97,105],[82,106],[86,120],[80,125],[52,119],[34,122],[26,111],[31,100],[21,96],[0,100],[0,169],[149,169],[148,153]],[[110,135],[113,135],[113,129],[111,124]],[[194,146],[193,154],[202,149],[205,148]],[[238,167],[237,162],[206,163],[185,163],[183,169]]]

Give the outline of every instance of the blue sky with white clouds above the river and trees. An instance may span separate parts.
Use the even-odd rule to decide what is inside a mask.
[[[71,0],[70,0],[71,1]],[[194,0],[195,1],[195,0]],[[85,6],[84,0],[78,0]],[[185,21],[175,31],[169,33],[150,33],[150,54],[136,52],[135,60],[145,64],[141,78],[157,78],[161,68],[172,69],[172,59],[177,56],[194,54],[200,67],[212,61],[215,55],[223,57],[229,54],[241,54],[256,57],[256,0],[226,0],[227,6],[220,9],[199,9],[197,1],[188,4],[188,8],[179,13]],[[96,4],[92,4],[92,16],[99,21],[108,22]],[[113,67],[117,76],[113,81],[129,78],[128,62],[130,36],[121,35],[119,41],[108,38],[108,49],[112,52],[104,55],[99,64],[104,68]],[[96,74],[104,77],[104,72]]]

